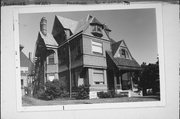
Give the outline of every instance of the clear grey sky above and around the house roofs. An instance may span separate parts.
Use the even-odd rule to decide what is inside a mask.
[[[46,17],[48,32],[52,32],[55,15],[76,21],[90,14],[112,30],[115,41],[124,40],[134,59],[139,63],[157,61],[157,32],[155,9],[125,9],[99,11],[71,11],[56,13],[26,13],[19,15],[19,38],[23,52],[34,55],[35,42],[40,29],[40,20]]]

